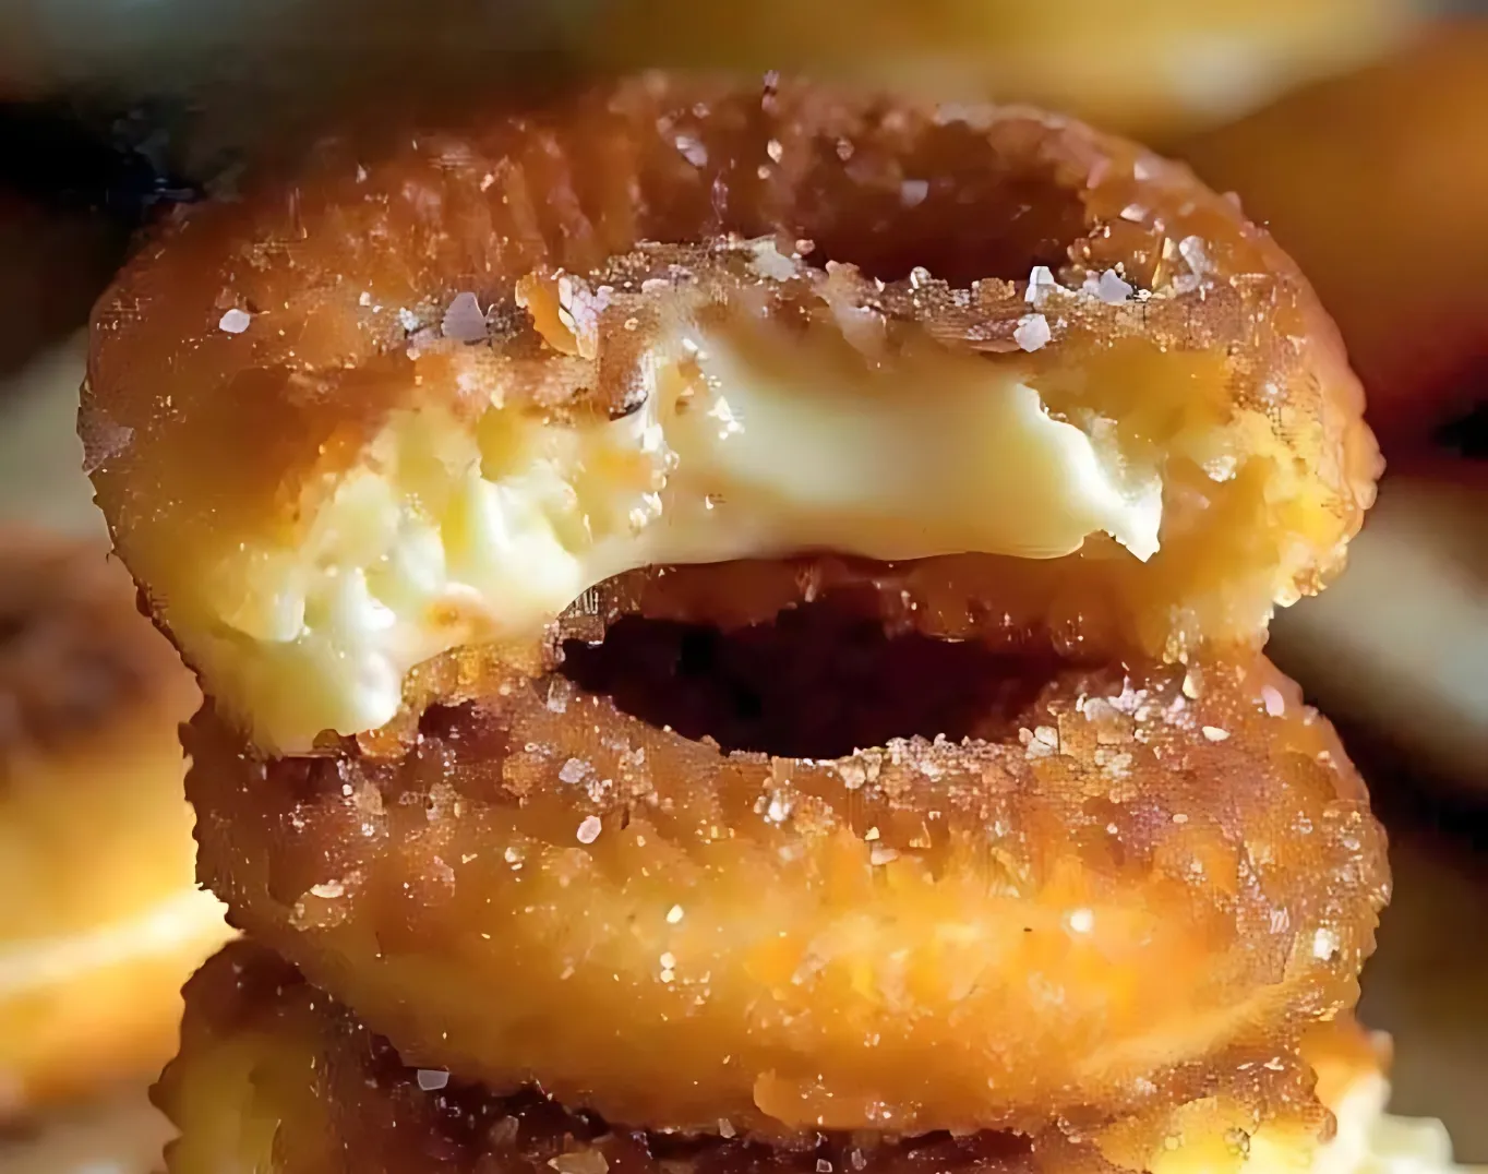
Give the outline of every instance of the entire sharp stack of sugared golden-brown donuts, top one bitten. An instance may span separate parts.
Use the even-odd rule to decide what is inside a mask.
[[[80,418],[250,939],[171,1170],[1308,1161],[1388,873],[1260,646],[1360,409],[1027,109],[644,76],[182,213]]]

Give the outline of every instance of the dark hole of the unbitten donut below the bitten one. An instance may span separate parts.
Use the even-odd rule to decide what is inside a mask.
[[[997,738],[1054,679],[1052,653],[888,632],[835,600],[719,629],[625,616],[564,643],[561,673],[622,711],[725,751],[829,759],[894,738]]]

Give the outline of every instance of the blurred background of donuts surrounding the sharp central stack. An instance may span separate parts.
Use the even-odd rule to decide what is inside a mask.
[[[1301,262],[1390,472],[1350,573],[1278,619],[1272,653],[1338,722],[1391,832],[1363,1018],[1394,1036],[1394,1107],[1488,1162],[1488,16],[1472,7],[0,3],[0,1174],[152,1168],[164,1128],[143,1089],[180,979],[226,933],[192,891],[171,750],[192,684],[126,577],[98,573],[73,433],[92,301],[173,204],[351,112],[650,64],[1065,109],[1187,159]]]

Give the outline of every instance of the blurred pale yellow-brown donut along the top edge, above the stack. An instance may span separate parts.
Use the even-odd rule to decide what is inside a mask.
[[[580,43],[607,67],[804,70],[942,100],[1036,101],[1161,140],[1370,60],[1417,24],[1417,7],[1144,0],[1115,19],[1100,0],[612,0],[586,13]]]

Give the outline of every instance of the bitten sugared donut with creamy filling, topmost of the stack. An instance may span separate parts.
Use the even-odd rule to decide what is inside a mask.
[[[417,665],[662,562],[978,551],[990,610],[1085,647],[1254,646],[1372,500],[1292,263],[1077,124],[650,76],[390,137],[180,213],[95,315],[98,501],[263,748],[376,729]],[[862,467],[750,464],[815,469],[850,417]]]

